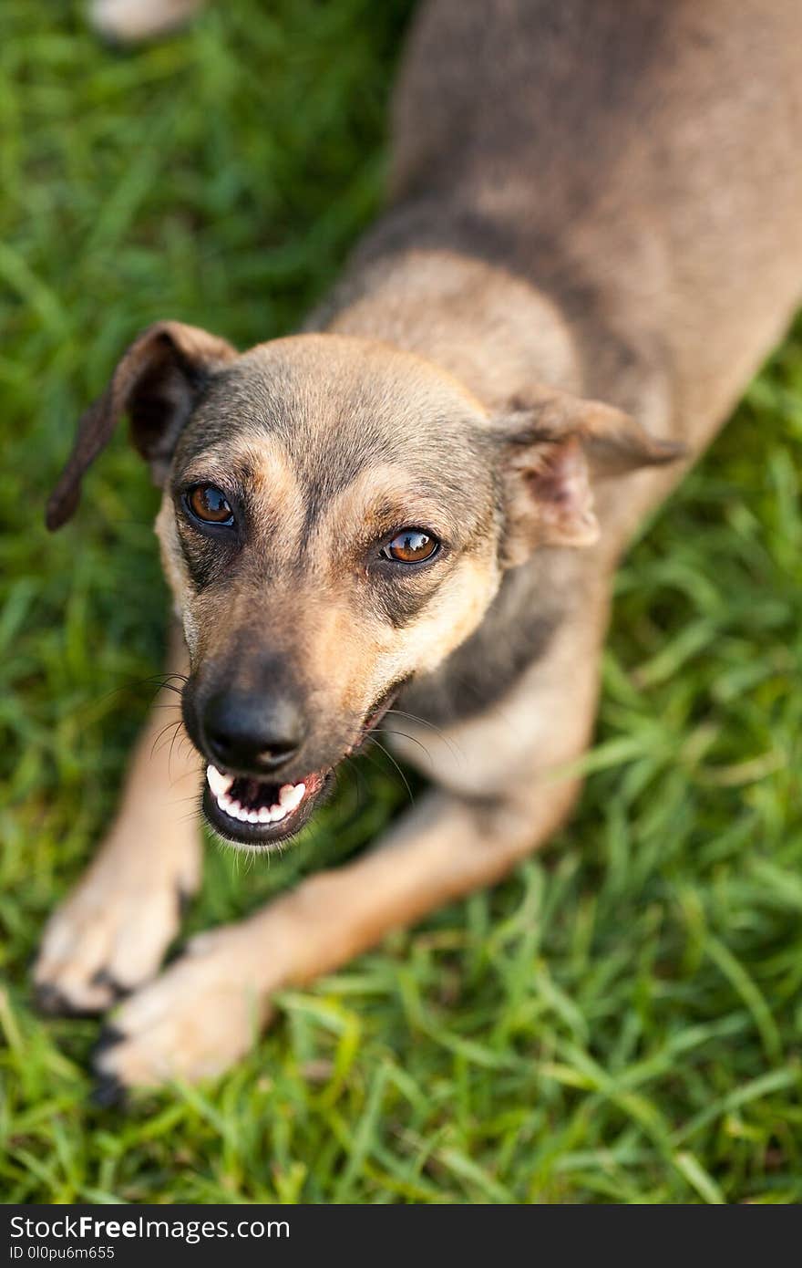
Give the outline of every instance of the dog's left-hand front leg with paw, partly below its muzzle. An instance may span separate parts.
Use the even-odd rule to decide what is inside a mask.
[[[169,668],[186,671],[177,629],[171,631]],[[48,921],[34,969],[38,999],[48,1012],[101,1012],[151,978],[177,932],[181,900],[198,889],[200,838],[191,800],[200,760],[177,725],[177,701],[169,687],[160,692],[117,819]]]

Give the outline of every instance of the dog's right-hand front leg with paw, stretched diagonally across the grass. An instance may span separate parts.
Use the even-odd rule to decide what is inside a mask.
[[[544,780],[526,801],[495,805],[430,792],[357,861],[195,938],[114,1017],[96,1056],[101,1096],[219,1074],[266,1025],[275,990],[309,983],[389,929],[498,880],[554,831],[575,791],[576,781]]]

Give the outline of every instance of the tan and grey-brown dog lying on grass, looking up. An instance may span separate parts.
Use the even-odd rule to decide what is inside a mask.
[[[109,1096],[219,1074],[274,992],[564,823],[616,563],[802,301],[799,119],[797,0],[428,0],[388,208],[303,330],[241,354],[165,321],[123,355],[48,525],[127,413],[212,829],[289,841],[390,709],[432,787],[158,975],[200,855],[171,792],[198,754],[170,775],[153,720],[34,974],[51,1009],[127,995]]]

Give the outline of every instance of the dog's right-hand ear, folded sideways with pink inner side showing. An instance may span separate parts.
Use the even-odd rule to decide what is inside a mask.
[[[500,420],[507,510],[502,562],[523,563],[538,545],[598,540],[593,476],[675,462],[684,445],[658,440],[630,415],[599,401],[537,388]]]

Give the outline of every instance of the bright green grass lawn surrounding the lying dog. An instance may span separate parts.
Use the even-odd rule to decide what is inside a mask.
[[[380,203],[407,0],[218,5],[134,55],[5,0],[0,42],[0,1197],[802,1200],[802,340],[631,553],[579,812],[504,885],[281,998],[222,1082],[87,1104],[94,1022],[30,1007],[46,914],[160,666],[155,492],[119,437],[43,500],[128,339],[286,331]],[[280,864],[208,850],[190,928],[372,838],[346,785]]]

